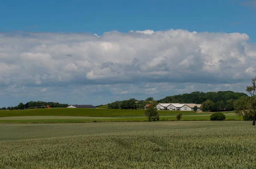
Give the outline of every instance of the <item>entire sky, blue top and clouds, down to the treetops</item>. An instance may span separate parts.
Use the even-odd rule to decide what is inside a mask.
[[[0,107],[244,92],[256,0],[9,0],[0,6]]]

